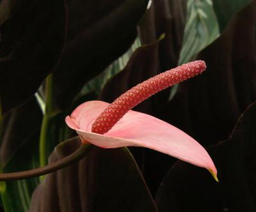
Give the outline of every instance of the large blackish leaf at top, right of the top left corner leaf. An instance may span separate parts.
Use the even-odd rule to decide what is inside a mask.
[[[68,1],[67,44],[54,73],[55,107],[69,107],[86,82],[124,54],[148,0]]]

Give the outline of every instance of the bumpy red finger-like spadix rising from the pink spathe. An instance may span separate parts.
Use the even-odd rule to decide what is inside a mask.
[[[143,102],[166,87],[195,77],[195,75],[204,72],[205,68],[204,61],[193,61],[160,73],[132,87],[100,114],[92,125],[92,132],[100,134],[108,132],[125,113],[138,105],[138,103]]]

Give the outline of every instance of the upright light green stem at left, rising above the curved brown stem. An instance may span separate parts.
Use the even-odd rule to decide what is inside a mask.
[[[45,115],[43,117],[41,132],[40,132],[40,167],[44,167],[47,164],[47,134],[49,131],[49,117],[52,114],[52,75],[46,78],[45,82]]]

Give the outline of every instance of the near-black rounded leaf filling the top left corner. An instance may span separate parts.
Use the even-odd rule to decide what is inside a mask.
[[[0,2],[0,99],[2,112],[32,96],[60,57],[65,3]]]

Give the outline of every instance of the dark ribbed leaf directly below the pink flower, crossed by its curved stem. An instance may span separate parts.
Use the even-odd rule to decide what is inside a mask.
[[[54,150],[50,163],[76,150],[79,139]],[[99,149],[70,167],[47,175],[36,188],[30,211],[157,212],[131,154]]]

